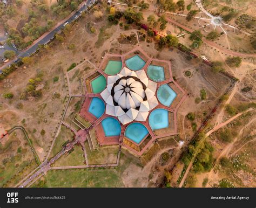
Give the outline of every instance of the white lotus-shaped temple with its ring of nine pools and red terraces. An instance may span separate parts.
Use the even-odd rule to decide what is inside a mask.
[[[106,54],[85,83],[79,116],[93,126],[91,149],[122,145],[142,155],[154,141],[177,134],[185,92],[173,80],[170,61],[152,59],[139,47]]]

